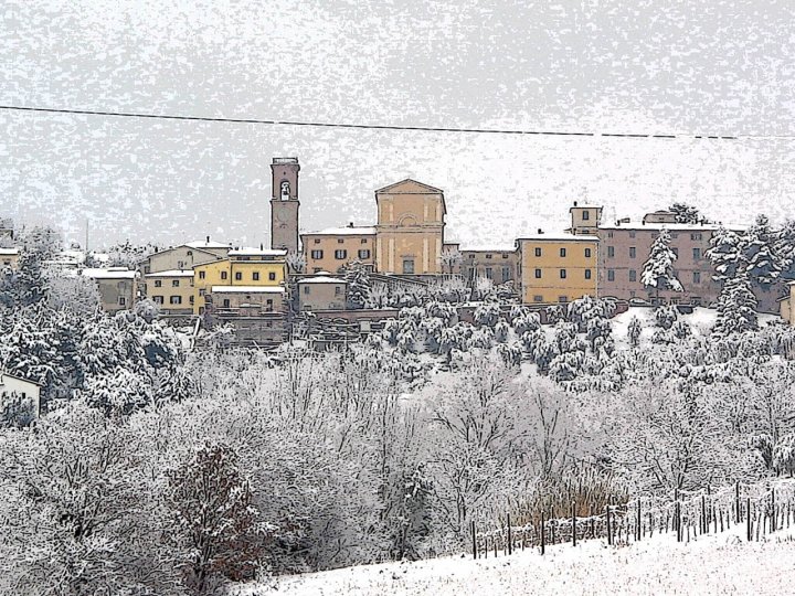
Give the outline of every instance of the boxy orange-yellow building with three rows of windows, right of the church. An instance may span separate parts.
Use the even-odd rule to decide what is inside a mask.
[[[565,304],[597,297],[598,238],[536,234],[519,238],[521,299],[526,304]]]

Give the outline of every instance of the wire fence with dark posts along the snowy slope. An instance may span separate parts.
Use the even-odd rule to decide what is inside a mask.
[[[795,481],[736,483],[718,490],[675,490],[668,497],[644,497],[605,507],[598,513],[576,515],[572,503],[568,518],[550,519],[544,511],[526,524],[512,525],[510,514],[490,528],[470,523],[471,555],[487,558],[524,549],[605,540],[608,545],[642,542],[655,534],[676,533],[677,542],[714,534],[744,524],[748,541],[789,528],[795,522]],[[593,511],[593,510],[592,510]]]

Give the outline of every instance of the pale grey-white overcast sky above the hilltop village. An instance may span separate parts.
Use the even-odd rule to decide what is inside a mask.
[[[665,7],[661,8],[661,7]],[[0,8],[0,104],[325,123],[751,135],[517,137],[0,111],[0,216],[91,244],[268,238],[273,156],[301,227],[445,191],[448,237],[505,244],[571,201],[637,216],[795,213],[795,2],[36,1]],[[484,222],[488,222],[484,224]]]

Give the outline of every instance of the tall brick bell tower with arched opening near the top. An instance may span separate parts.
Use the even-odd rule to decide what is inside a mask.
[[[271,247],[298,252],[298,158],[273,158]]]

